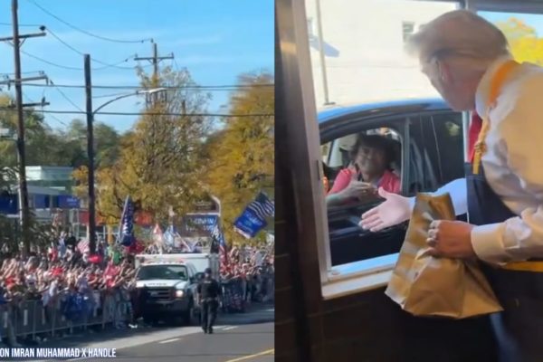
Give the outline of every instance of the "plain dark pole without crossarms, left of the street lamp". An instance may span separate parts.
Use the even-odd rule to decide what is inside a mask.
[[[87,157],[89,158],[89,250],[96,251],[96,209],[94,195],[94,132],[92,111],[92,82],[90,80],[90,55],[85,54],[85,97],[87,100]]]

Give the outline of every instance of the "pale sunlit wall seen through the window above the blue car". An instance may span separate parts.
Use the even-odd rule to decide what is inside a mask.
[[[454,3],[416,0],[320,0],[329,100],[336,104],[439,97],[405,54],[403,23],[421,24]],[[316,0],[306,0],[317,108],[324,105]],[[311,33],[313,36],[311,36]]]

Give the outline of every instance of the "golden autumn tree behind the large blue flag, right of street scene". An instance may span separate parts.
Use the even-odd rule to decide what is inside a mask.
[[[273,76],[268,72],[243,74],[239,90],[230,97],[224,127],[208,138],[210,192],[221,200],[223,229],[228,243],[247,243],[233,232],[235,218],[264,191],[273,197],[274,137]],[[262,233],[261,233],[262,237]]]

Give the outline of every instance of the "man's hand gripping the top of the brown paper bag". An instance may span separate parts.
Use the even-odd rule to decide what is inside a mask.
[[[474,225],[462,221],[433,221],[426,243],[430,254],[436,257],[472,259],[476,256],[472,247]]]

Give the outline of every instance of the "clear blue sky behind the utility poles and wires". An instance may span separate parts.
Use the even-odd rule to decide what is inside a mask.
[[[19,23],[44,24],[64,42],[91,57],[108,64],[117,64],[124,59],[150,56],[152,44],[111,43],[71,29],[52,16],[43,13],[38,5],[62,20],[103,37],[138,40],[153,38],[158,44],[159,55],[175,54],[176,62],[163,61],[162,65],[186,67],[195,81],[201,85],[231,85],[240,73],[247,71],[273,71],[273,1],[272,0],[19,0]],[[11,36],[10,1],[0,3],[0,36]],[[21,26],[21,33],[36,33],[35,26]],[[22,70],[45,71],[55,84],[84,84],[83,57],[56,40],[51,34],[28,39],[22,49],[49,62],[81,68],[65,70],[37,61],[22,54]],[[0,62],[0,73],[13,73],[13,48],[0,43],[4,54]],[[122,67],[137,65],[129,61]],[[148,65],[148,62],[141,62]],[[103,67],[93,63],[93,68]],[[146,71],[152,71],[148,66]],[[2,74],[3,75],[3,74]],[[24,77],[34,74],[24,74]],[[33,83],[38,81],[33,81]],[[108,68],[92,72],[94,85],[137,85],[134,70]],[[4,88],[4,90],[6,90]],[[39,101],[43,96],[51,105],[45,110],[81,110],[85,108],[83,89],[61,88],[73,102],[65,100],[55,88],[24,87],[24,101]],[[13,89],[10,90],[13,94]],[[94,109],[111,98],[102,97],[125,90],[93,90]],[[129,92],[129,91],[127,91]],[[224,112],[221,106],[227,103],[227,91],[214,91],[209,105],[210,112]],[[104,111],[137,112],[142,99],[129,97],[112,103]],[[63,123],[84,115],[46,115],[53,128],[64,128]],[[98,116],[119,131],[129,129],[135,117]]]

